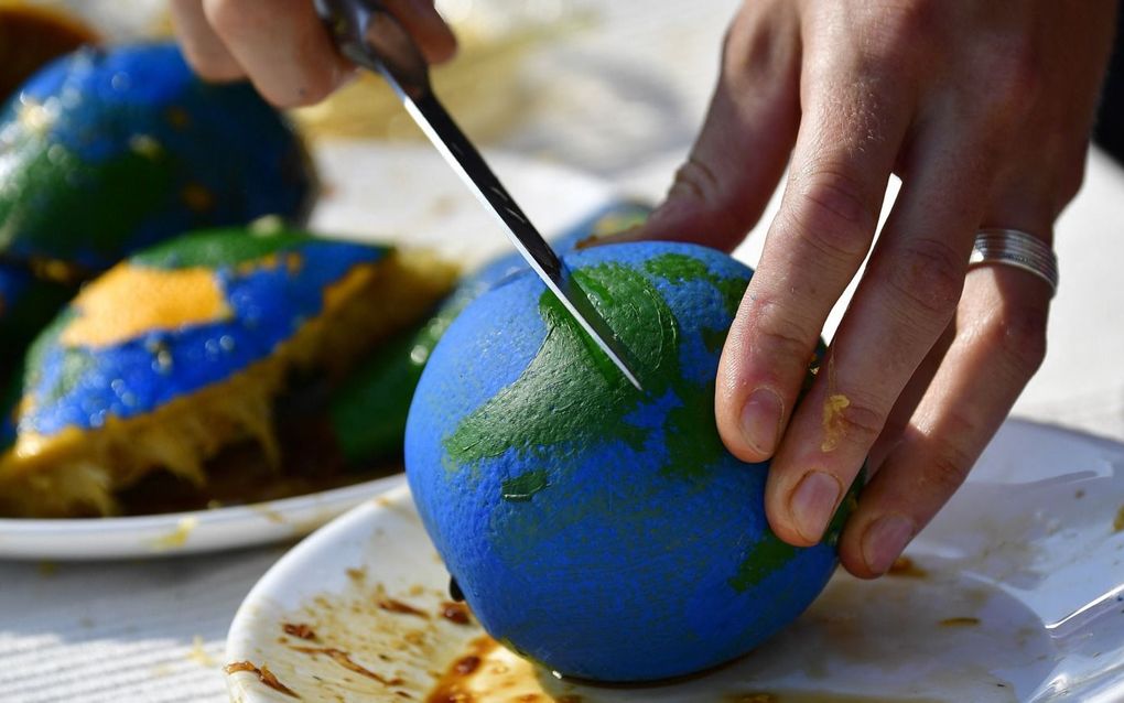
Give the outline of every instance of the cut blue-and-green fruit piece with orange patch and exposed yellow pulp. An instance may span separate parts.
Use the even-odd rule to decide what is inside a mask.
[[[274,400],[342,382],[452,276],[423,253],[288,229],[208,229],[123,261],[28,352],[0,514],[112,513],[154,471],[201,486],[238,441],[277,458]]]

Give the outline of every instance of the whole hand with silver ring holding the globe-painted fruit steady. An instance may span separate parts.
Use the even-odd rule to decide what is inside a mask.
[[[765,507],[818,541],[869,456],[843,565],[885,573],[960,486],[1045,352],[1050,287],[968,270],[976,232],[1048,244],[1078,191],[1115,2],[747,0],[667,201],[620,238],[733,249],[789,175],[718,369],[726,447],[772,458]],[[794,412],[832,306],[871,250]]]

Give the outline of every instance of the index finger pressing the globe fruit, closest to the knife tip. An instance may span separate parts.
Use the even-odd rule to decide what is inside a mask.
[[[777,449],[824,319],[865,258],[908,126],[908,106],[883,108],[879,89],[841,80],[826,61],[810,65],[781,209],[718,368],[718,432],[746,461]]]

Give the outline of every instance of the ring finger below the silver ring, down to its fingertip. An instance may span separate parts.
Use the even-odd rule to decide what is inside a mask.
[[[955,341],[844,530],[849,571],[886,573],[963,483],[1042,361],[1049,299],[1045,283],[1010,267],[968,276]]]

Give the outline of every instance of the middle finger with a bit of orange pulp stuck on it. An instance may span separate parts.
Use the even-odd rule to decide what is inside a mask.
[[[910,379],[949,327],[985,198],[985,177],[922,145],[832,348],[770,466],[777,534],[819,541]],[[955,178],[953,178],[955,177]],[[932,193],[940,192],[934,201]],[[812,488],[809,488],[812,486]],[[818,492],[818,493],[817,493]]]

